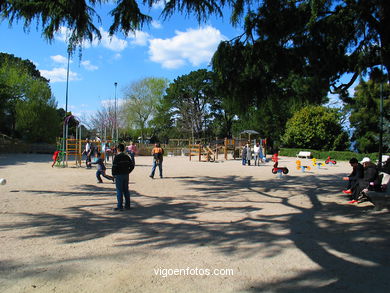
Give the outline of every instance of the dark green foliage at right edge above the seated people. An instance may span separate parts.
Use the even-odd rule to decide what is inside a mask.
[[[378,75],[378,74],[377,74]],[[353,102],[348,105],[351,110],[349,121],[354,128],[352,140],[356,142],[359,152],[374,152],[378,150],[379,145],[379,104],[380,96],[383,96],[383,114],[384,119],[390,119],[390,86],[383,82],[383,75],[379,74],[379,80],[372,78],[369,81],[361,80],[355,88]],[[382,87],[382,89],[381,89]],[[386,124],[385,124],[386,127]],[[390,145],[388,141],[389,132],[384,135],[384,151],[388,151]]]

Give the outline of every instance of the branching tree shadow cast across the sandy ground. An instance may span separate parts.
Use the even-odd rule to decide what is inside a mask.
[[[128,237],[123,236],[115,243],[117,246],[152,245],[158,249],[207,245],[241,258],[258,257],[260,249],[266,257],[276,257],[286,249],[297,248],[320,268],[299,272],[276,283],[254,283],[242,289],[384,292],[390,287],[389,213],[329,201],[342,188],[340,177],[335,174],[285,176],[282,180],[250,176],[182,178],[179,180],[186,185],[188,194],[167,197],[133,192],[134,197],[147,198],[148,202],[142,205],[136,199],[135,208],[123,213],[96,213],[95,208],[108,208],[106,202],[98,199],[112,196],[112,190],[95,187],[97,196],[90,197],[92,187],[80,186],[77,192],[52,193],[88,196],[93,201],[70,207],[62,214],[18,214],[26,220],[1,224],[0,230],[35,228],[34,234],[21,237],[56,237],[64,243],[83,242],[120,231]],[[196,197],[191,195],[193,192]],[[300,205],[300,200],[309,201],[310,205]],[[287,209],[274,215],[262,214],[264,205],[283,205]],[[218,213],[224,213],[225,218]],[[339,217],[351,224],[345,224]]]

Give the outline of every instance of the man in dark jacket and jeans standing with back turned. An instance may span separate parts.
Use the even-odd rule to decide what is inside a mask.
[[[130,157],[124,153],[125,146],[118,145],[120,152],[114,158],[112,163],[112,175],[115,177],[116,197],[118,201],[115,211],[123,211],[123,196],[125,197],[125,209],[130,209],[130,193],[129,193],[129,174],[134,169],[134,163]]]

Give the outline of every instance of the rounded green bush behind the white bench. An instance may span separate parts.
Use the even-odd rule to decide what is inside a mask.
[[[317,150],[345,150],[348,136],[342,130],[339,115],[321,106],[307,106],[287,122],[283,143],[290,147]]]

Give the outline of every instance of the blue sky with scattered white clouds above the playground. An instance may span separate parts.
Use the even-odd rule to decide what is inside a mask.
[[[175,13],[161,20],[162,7],[155,6],[146,12],[153,22],[142,31],[124,36],[108,35],[112,19],[108,13],[114,4],[95,7],[102,18],[99,26],[102,39],[93,41],[70,59],[68,111],[85,121],[98,109],[123,98],[124,89],[146,77],[161,77],[173,81],[178,76],[201,68],[210,69],[211,57],[222,40],[230,40],[242,32],[224,19],[211,17],[199,24],[195,16]],[[32,61],[41,75],[50,80],[58,107],[65,109],[67,44],[65,27],[49,43],[41,35],[41,26],[34,22],[29,31],[23,22],[10,27],[7,20],[0,23],[0,52],[13,54]],[[117,83],[117,87],[115,87]]]

